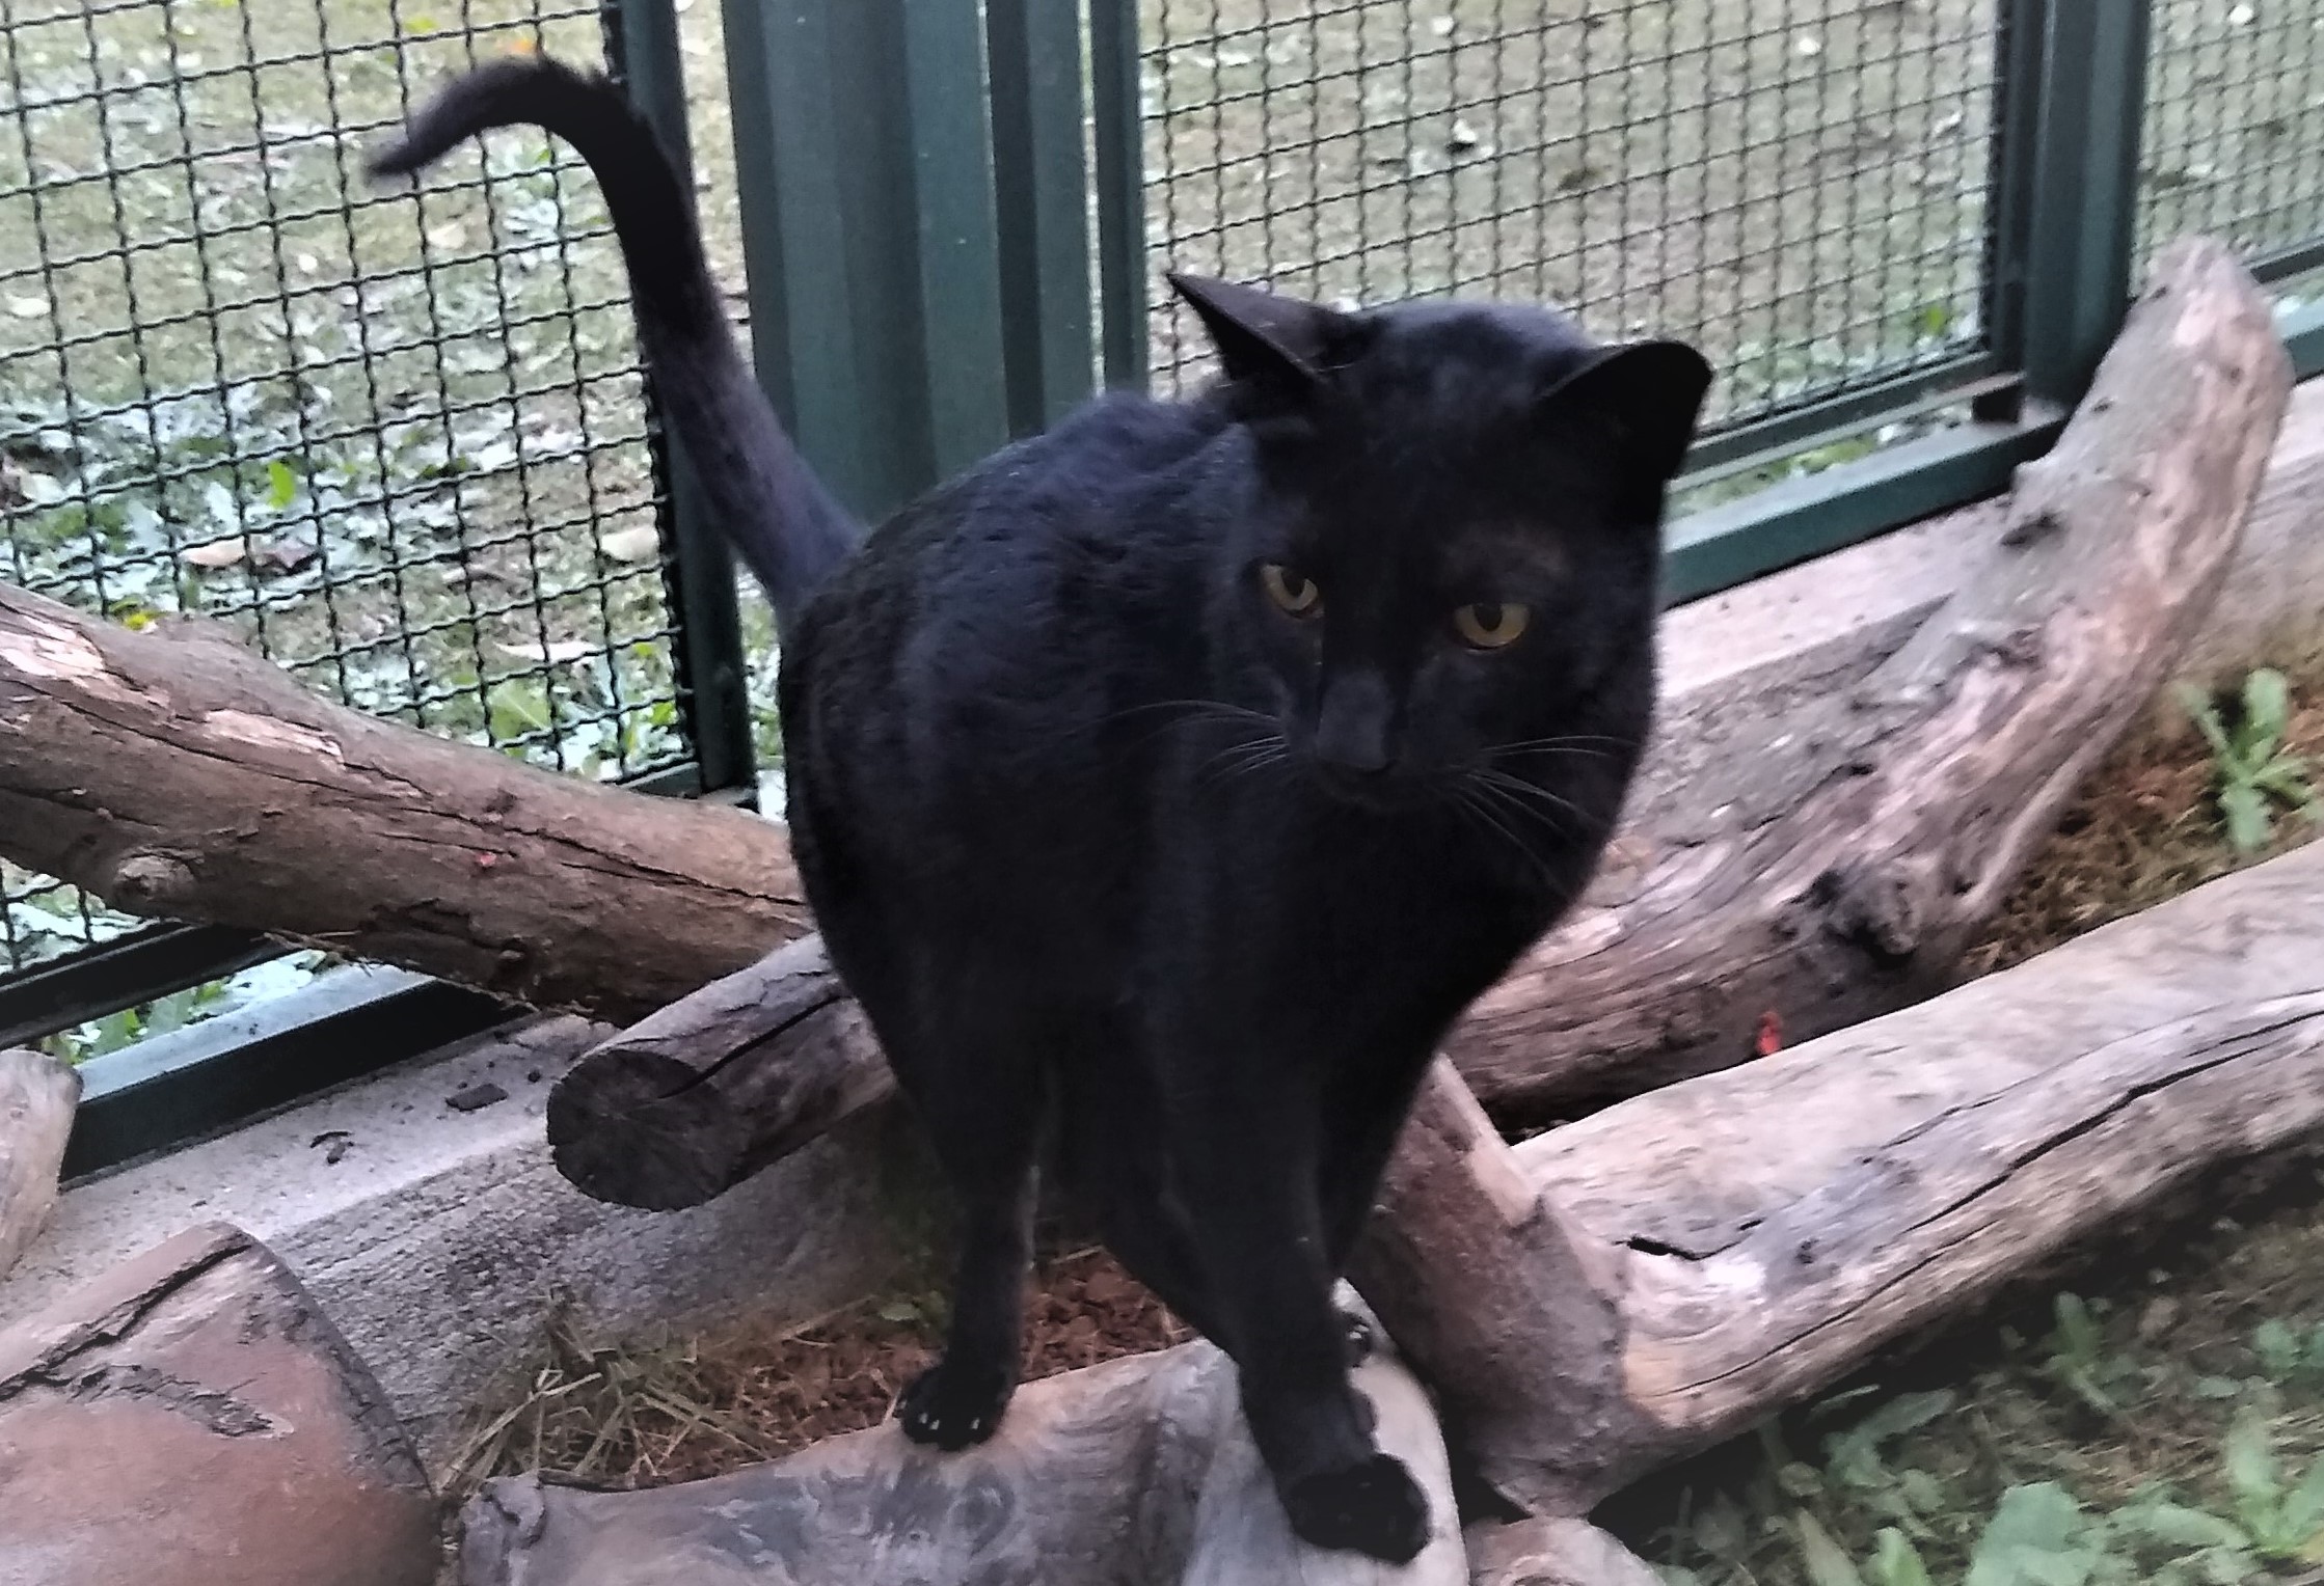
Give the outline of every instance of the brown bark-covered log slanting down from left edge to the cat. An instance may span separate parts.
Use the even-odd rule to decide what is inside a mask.
[[[342,711],[205,622],[0,585],[0,852],[537,1008],[641,1017],[806,929],[769,822]]]

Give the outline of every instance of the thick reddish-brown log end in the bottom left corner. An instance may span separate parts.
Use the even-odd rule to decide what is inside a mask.
[[[193,1228],[0,1331],[0,1586],[428,1586],[379,1384],[249,1235]]]

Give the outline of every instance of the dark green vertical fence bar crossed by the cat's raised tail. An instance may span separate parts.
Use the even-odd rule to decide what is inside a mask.
[[[686,121],[686,65],[672,0],[621,0],[604,9],[607,58],[614,60],[679,174],[693,183]],[[751,680],[734,597],[734,557],[709,522],[686,446],[660,423],[653,376],[646,376],[646,444],[665,488],[662,581],[676,613],[679,708],[686,711],[702,790],[753,787],[758,750],[751,734]]]

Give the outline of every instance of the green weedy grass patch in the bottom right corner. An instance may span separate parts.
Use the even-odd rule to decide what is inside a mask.
[[[1601,1519],[1671,1586],[2324,1581],[2319,1187],[1964,1326]]]

